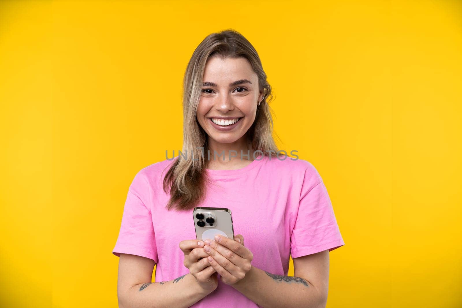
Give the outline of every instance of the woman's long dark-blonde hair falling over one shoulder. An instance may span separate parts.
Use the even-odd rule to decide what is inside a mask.
[[[207,60],[217,55],[222,59],[244,57],[249,60],[258,76],[259,93],[264,93],[264,99],[257,107],[255,121],[247,131],[247,136],[252,142],[253,151],[260,150],[266,156],[267,151],[278,151],[273,138],[273,134],[277,137],[273,131],[273,110],[268,104],[273,100],[273,94],[255,48],[236,30],[228,29],[208,35],[195,49],[183,78],[182,153],[186,153],[189,158],[176,157],[165,174],[163,188],[165,193],[170,189],[167,204],[169,211],[173,208],[178,211],[193,209],[204,200],[207,184],[212,183],[205,172],[208,164],[204,157],[209,150],[208,136],[197,121],[196,112]],[[194,160],[190,159],[193,155]]]

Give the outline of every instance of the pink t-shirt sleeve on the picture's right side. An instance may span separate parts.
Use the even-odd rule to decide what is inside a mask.
[[[317,170],[305,171],[298,214],[290,236],[291,255],[298,258],[345,245],[327,189]]]

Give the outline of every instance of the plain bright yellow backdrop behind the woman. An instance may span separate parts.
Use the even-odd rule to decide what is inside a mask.
[[[128,186],[181,149],[187,62],[231,28],[334,205],[327,307],[461,307],[461,21],[443,0],[1,1],[1,306],[117,306]]]

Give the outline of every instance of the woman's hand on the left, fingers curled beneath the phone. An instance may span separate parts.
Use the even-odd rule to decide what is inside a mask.
[[[209,254],[204,251],[204,242],[186,240],[181,241],[179,246],[184,254],[184,266],[188,268],[204,291],[213,292],[218,287],[218,273],[207,260]]]

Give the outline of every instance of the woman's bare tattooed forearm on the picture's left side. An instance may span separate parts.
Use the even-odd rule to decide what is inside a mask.
[[[137,284],[119,295],[120,308],[187,308],[205,292],[190,273],[169,281]]]

